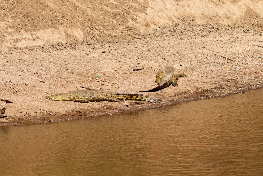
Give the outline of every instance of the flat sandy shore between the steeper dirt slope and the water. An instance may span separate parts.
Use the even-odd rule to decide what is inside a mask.
[[[140,11],[153,8],[152,4],[148,3],[148,8],[146,2],[144,5]],[[130,113],[263,87],[263,48],[254,46],[263,45],[261,15],[247,7],[244,15],[231,24],[223,24],[212,17],[206,18],[209,22],[200,24],[197,19],[203,18],[193,15],[181,16],[157,29],[153,26],[136,29],[125,23],[126,35],[93,36],[90,32],[90,37],[83,40],[66,37],[66,41],[40,42],[32,46],[26,43],[41,37],[29,41],[23,37],[14,39],[15,34],[12,34],[14,41],[7,41],[8,38],[2,41],[0,51],[0,98],[13,103],[7,104],[8,116],[0,119],[0,126]],[[8,42],[10,46],[3,46]],[[226,62],[214,53],[234,60]],[[124,102],[77,103],[45,99],[49,94],[82,87],[136,93],[154,87],[156,71],[169,65],[190,77],[179,78],[175,88],[170,86],[146,93],[165,104],[129,101],[126,107]],[[133,68],[142,70],[133,71]],[[98,73],[99,79],[111,83],[97,81]]]

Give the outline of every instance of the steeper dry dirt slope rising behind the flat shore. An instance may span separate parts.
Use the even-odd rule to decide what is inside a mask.
[[[263,1],[251,0],[0,0],[0,44],[25,47],[90,41],[94,36],[100,41],[129,39],[136,31],[170,26],[182,17],[197,24],[233,25],[247,9],[263,17]]]

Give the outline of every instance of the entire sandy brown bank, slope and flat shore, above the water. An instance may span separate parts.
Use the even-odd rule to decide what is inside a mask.
[[[262,1],[63,2],[0,1],[0,98],[13,102],[0,126],[129,113],[263,87]],[[175,88],[144,93],[165,104],[45,99],[85,88],[138,93],[155,86],[164,66],[189,75]]]

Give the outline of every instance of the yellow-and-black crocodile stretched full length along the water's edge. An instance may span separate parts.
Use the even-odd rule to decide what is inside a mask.
[[[75,101],[81,103],[95,102],[95,101],[112,101],[117,102],[122,99],[147,101],[152,103],[164,103],[159,100],[153,99],[143,94],[129,94],[129,93],[116,93],[102,90],[78,90],[69,93],[58,93],[55,95],[47,96],[46,99],[57,101]]]

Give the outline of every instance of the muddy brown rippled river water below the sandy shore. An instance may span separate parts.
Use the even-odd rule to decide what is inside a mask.
[[[0,128],[0,175],[263,175],[263,89]]]

